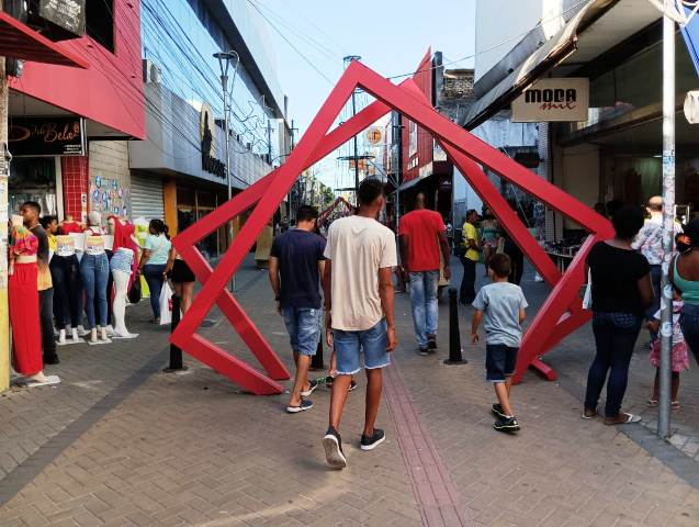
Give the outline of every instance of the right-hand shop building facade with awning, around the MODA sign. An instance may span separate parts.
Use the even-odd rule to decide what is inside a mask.
[[[476,4],[477,24],[492,18],[503,2]],[[594,206],[611,200],[644,203],[662,190],[662,20],[651,3],[633,0],[529,0],[517,2],[521,16],[499,20],[497,31],[481,45],[505,35],[525,36],[476,63],[477,101],[469,111],[466,128],[506,119],[503,126],[537,126],[538,172]],[[529,11],[531,10],[531,11]],[[526,12],[530,14],[527,15]],[[532,19],[533,16],[533,19]],[[538,19],[538,20],[534,20]],[[532,22],[533,21],[533,22]],[[489,40],[488,40],[489,38]],[[699,87],[690,51],[679,30],[676,35],[676,201],[680,212],[699,205],[699,128],[681,113],[688,91]],[[688,42],[688,41],[687,41]],[[476,49],[478,52],[478,49]],[[478,64],[483,67],[478,70]],[[541,79],[589,85],[589,106],[582,120],[514,123],[512,102],[537,90]],[[583,231],[573,218],[546,213],[550,243],[576,245]]]

